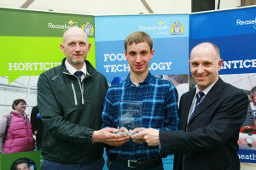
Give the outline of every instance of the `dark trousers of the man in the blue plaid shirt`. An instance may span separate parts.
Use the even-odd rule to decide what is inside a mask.
[[[127,167],[123,163],[113,159],[113,160],[111,160],[109,170],[164,170],[164,167],[163,167],[163,164],[160,164],[155,167],[149,167],[149,168]]]

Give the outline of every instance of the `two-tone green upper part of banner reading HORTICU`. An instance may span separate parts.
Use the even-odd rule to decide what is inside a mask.
[[[71,26],[79,26],[88,35],[87,59],[96,66],[93,16],[0,8],[0,22],[0,77],[9,77],[9,83],[61,65],[65,57],[62,36]]]

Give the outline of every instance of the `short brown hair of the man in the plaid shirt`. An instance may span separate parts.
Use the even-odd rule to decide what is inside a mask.
[[[151,37],[143,31],[136,31],[131,33],[128,37],[125,39],[125,51],[127,52],[127,46],[131,45],[131,43],[140,43],[140,42],[148,42],[148,46],[150,48],[150,51],[153,48],[153,41]]]

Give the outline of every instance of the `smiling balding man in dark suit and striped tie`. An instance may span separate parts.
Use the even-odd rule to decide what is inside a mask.
[[[164,156],[175,154],[175,170],[240,169],[237,139],[247,115],[247,95],[218,77],[223,59],[216,45],[196,45],[189,64],[196,86],[181,97],[179,131],[147,128],[132,139],[160,144]]]

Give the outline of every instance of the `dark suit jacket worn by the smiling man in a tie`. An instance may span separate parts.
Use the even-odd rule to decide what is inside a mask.
[[[176,154],[176,170],[240,169],[237,139],[247,95],[218,78],[187,125],[194,96],[195,88],[181,97],[179,131],[160,131],[162,154]]]

